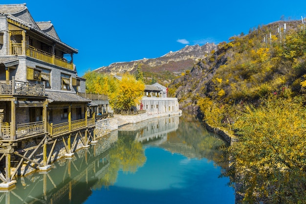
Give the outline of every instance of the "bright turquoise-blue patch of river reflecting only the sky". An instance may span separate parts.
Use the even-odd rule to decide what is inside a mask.
[[[85,204],[234,204],[228,178],[207,159],[187,159],[147,147],[147,162],[136,173],[119,172],[108,189],[94,190]],[[102,202],[103,201],[103,202]]]

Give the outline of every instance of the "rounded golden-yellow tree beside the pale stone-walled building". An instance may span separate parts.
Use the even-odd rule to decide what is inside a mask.
[[[116,80],[116,79],[115,79]],[[109,94],[109,104],[116,111],[128,111],[140,103],[145,85],[131,74],[125,74],[118,80],[116,90]]]

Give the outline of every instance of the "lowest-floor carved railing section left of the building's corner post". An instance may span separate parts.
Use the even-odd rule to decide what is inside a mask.
[[[16,125],[16,139],[44,133],[44,122],[31,122]]]

